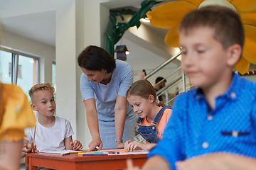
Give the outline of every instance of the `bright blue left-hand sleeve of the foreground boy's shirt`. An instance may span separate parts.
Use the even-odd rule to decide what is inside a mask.
[[[183,111],[181,104],[184,103],[182,95],[178,96],[175,101],[171,117],[169,118],[166,128],[164,130],[163,139],[159,141],[158,145],[149,153],[149,158],[154,155],[163,157],[169,162],[172,170],[175,170],[175,162],[183,160],[182,146],[183,146]],[[178,106],[178,107],[177,107]]]

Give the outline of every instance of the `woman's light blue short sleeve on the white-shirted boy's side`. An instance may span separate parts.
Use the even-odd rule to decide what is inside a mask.
[[[92,88],[90,81],[87,81],[87,77],[84,73],[82,73],[80,77],[80,91],[82,95],[82,101],[95,98],[95,90]]]

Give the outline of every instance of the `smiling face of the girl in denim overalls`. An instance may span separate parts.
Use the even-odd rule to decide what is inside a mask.
[[[151,113],[152,103],[154,103],[154,96],[150,95],[148,99],[142,98],[141,96],[129,96],[127,101],[132,106],[133,110],[139,117],[145,118]]]

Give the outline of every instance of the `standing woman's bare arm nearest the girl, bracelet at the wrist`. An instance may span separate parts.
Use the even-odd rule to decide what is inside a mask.
[[[127,98],[117,95],[117,101],[114,107],[114,124],[116,131],[116,140],[122,140],[126,114]],[[124,148],[124,144],[122,142],[116,142],[116,145],[117,148]]]

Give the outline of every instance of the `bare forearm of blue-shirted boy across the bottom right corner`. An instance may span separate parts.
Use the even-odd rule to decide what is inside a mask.
[[[203,157],[194,157],[184,162],[176,162],[178,170],[212,169],[212,170],[252,170],[256,167],[256,159],[235,154],[215,153]]]

